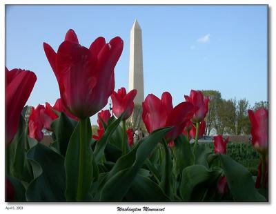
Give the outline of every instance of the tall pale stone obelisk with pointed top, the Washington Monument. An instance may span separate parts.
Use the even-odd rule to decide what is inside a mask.
[[[128,90],[137,89],[135,104],[144,101],[144,74],[143,74],[143,50],[142,30],[137,20],[130,30],[130,70]]]

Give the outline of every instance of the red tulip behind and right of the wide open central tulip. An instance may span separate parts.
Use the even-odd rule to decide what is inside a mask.
[[[198,108],[191,119],[193,123],[203,121],[208,113],[209,97],[206,96],[204,99],[203,93],[200,90],[191,90],[190,97],[185,95],[185,99]]]

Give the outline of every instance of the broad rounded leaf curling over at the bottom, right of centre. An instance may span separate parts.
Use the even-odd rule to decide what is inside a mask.
[[[186,202],[200,202],[204,200],[206,191],[214,188],[221,171],[208,170],[202,165],[187,166],[182,172],[179,193],[182,200]]]

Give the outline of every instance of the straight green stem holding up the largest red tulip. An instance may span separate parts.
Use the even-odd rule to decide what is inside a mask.
[[[85,148],[85,135],[86,135],[86,120],[80,119],[79,120],[79,176],[78,176],[78,186],[77,186],[77,202],[83,201],[83,174],[86,170],[84,168],[84,157],[86,153]]]

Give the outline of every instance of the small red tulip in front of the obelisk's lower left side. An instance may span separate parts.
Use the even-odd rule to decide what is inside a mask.
[[[136,89],[130,90],[129,93],[126,93],[126,88],[120,88],[118,93],[115,91],[112,93],[112,111],[116,117],[120,117],[124,112],[126,112],[126,115],[124,115],[123,120],[130,117],[134,108],[133,100],[135,99],[136,94]]]

